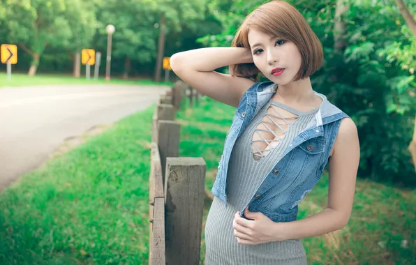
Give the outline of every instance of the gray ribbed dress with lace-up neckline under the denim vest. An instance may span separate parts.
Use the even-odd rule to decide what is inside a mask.
[[[296,119],[285,119],[288,117],[289,112]],[[259,245],[241,245],[235,239],[232,220],[235,213],[240,211],[244,204],[253,196],[255,190],[262,182],[262,178],[281,159],[286,147],[306,127],[306,124],[313,119],[316,112],[318,112],[318,108],[310,112],[299,112],[270,99],[237,139],[232,150],[228,169],[228,206],[225,206],[220,199],[214,197],[207,216],[205,225],[205,265],[307,264],[306,252],[300,239],[275,241]],[[275,118],[274,120],[281,125],[281,133],[276,133],[276,136],[280,139],[277,146],[272,149],[256,149],[255,147],[252,149],[253,139],[255,140],[253,134],[259,132],[258,124],[266,121],[267,119],[263,120],[263,118],[271,113],[279,117],[279,119]],[[269,128],[271,127],[269,126]],[[272,130],[274,129],[272,128]],[[278,132],[279,130],[274,131]],[[254,142],[254,145],[261,147],[258,142]],[[263,144],[263,147],[266,147],[266,145]],[[264,149],[268,150],[267,153],[262,152]],[[263,153],[265,153],[264,156]],[[260,156],[260,159],[258,159],[257,155]]]

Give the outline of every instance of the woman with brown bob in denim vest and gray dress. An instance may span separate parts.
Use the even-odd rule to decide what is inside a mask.
[[[359,162],[355,123],[311,86],[322,45],[283,1],[246,17],[232,47],[174,54],[174,72],[237,107],[205,226],[205,264],[306,264],[301,239],[346,226]],[[214,70],[230,66],[230,75]],[[267,82],[256,82],[258,74]],[[327,208],[297,220],[297,204],[329,165]]]

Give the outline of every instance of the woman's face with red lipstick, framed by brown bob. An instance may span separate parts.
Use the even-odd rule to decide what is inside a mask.
[[[290,40],[271,38],[266,33],[248,31],[253,62],[270,81],[285,85],[291,82],[302,64],[299,49]]]

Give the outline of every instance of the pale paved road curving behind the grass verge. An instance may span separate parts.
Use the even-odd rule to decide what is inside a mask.
[[[0,89],[0,190],[45,161],[68,137],[156,103],[167,86]]]

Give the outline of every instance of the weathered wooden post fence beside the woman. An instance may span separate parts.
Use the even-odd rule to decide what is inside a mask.
[[[149,177],[149,264],[200,263],[202,210],[207,166],[202,158],[179,158],[180,126],[174,121],[184,96],[198,93],[178,81],[156,106]]]

